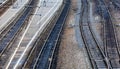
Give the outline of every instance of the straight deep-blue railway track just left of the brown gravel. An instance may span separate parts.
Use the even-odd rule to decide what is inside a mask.
[[[60,37],[62,27],[65,23],[67,13],[69,10],[70,0],[66,0],[67,3],[58,18],[54,28],[52,29],[46,43],[43,45],[39,55],[36,59],[35,64],[33,65],[33,69],[51,69],[53,60],[53,55],[55,53],[56,44]]]

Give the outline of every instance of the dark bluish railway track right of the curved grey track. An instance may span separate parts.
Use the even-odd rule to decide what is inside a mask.
[[[110,69],[120,68],[119,46],[112,23],[112,18],[103,0],[96,0],[97,5],[101,9],[101,17],[104,19],[104,53],[108,57],[111,67]]]

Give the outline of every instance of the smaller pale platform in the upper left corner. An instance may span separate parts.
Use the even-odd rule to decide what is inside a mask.
[[[18,1],[18,0],[17,0]],[[15,3],[17,3],[17,1]],[[24,6],[29,2],[29,0],[24,1],[21,3],[21,7],[17,9],[13,9],[12,6],[0,17],[0,31],[2,31],[2,28],[6,27],[9,25],[11,21],[13,21],[16,16],[19,15],[21,10],[24,9]],[[14,5],[15,5],[14,3]],[[12,15],[13,14],[13,15]]]

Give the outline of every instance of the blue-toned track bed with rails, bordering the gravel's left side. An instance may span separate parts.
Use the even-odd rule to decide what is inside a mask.
[[[67,0],[67,1],[69,2],[69,0]],[[57,39],[59,37],[60,30],[62,28],[62,24],[65,20],[65,18],[63,18],[63,17],[66,16],[68,8],[69,8],[69,4],[68,5],[65,4],[65,7],[64,7],[64,9],[63,9],[63,11],[60,15],[60,18],[58,19],[57,23],[55,24],[55,26],[54,26],[54,28],[51,32],[51,34],[49,35],[48,40],[46,41],[45,46],[44,46],[40,56],[38,56],[39,60],[37,61],[37,64],[36,64],[35,68],[48,69],[50,67],[49,66],[49,64],[50,64],[49,58],[52,56],[52,53],[54,52],[53,50],[55,50],[55,47],[56,47],[55,45],[57,43]],[[44,59],[44,60],[42,60],[42,59]],[[45,65],[41,64],[42,61],[44,61]]]

